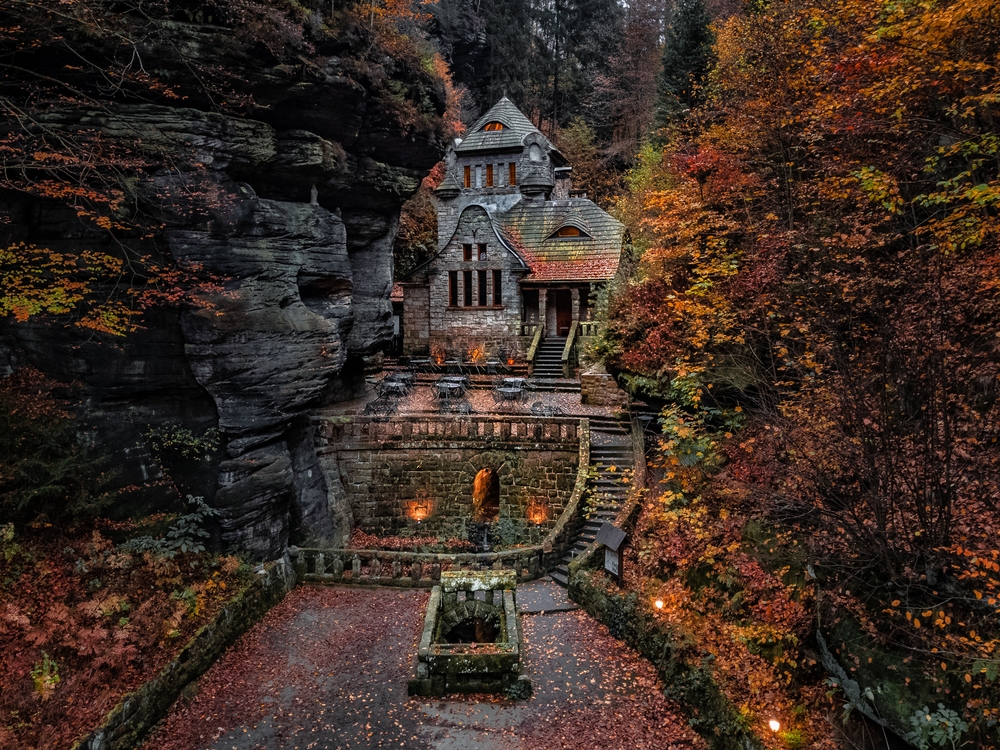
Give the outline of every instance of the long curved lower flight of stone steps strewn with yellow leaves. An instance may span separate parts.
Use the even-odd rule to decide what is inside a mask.
[[[590,489],[599,500],[572,548],[550,574],[560,586],[569,584],[570,561],[594,541],[601,524],[614,522],[628,497],[629,485],[622,477],[631,475],[635,465],[628,423],[613,417],[590,417],[590,465],[597,472]]]

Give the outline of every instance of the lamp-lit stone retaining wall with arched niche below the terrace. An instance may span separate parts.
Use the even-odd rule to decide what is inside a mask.
[[[473,481],[489,468],[499,476],[500,519],[515,523],[521,541],[537,544],[573,496],[584,434],[572,419],[322,419],[317,454],[328,485],[343,488],[355,526],[366,532],[462,536],[472,518]],[[539,499],[547,518],[525,521]],[[429,510],[419,523],[411,517],[414,504]]]

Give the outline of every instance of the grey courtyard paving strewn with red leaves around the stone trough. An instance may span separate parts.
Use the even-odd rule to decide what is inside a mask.
[[[427,593],[299,587],[179,701],[156,750],[701,748],[650,664],[549,580],[518,589],[527,701],[410,699]]]

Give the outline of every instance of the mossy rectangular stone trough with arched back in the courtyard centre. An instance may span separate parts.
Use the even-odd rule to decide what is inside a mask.
[[[431,590],[410,695],[528,695],[512,570],[442,573]]]

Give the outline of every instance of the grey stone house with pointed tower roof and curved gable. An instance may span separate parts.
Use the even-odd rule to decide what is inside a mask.
[[[563,155],[505,97],[445,163],[437,253],[400,285],[403,353],[523,356],[538,326],[564,339],[589,320],[624,227],[572,189]]]

